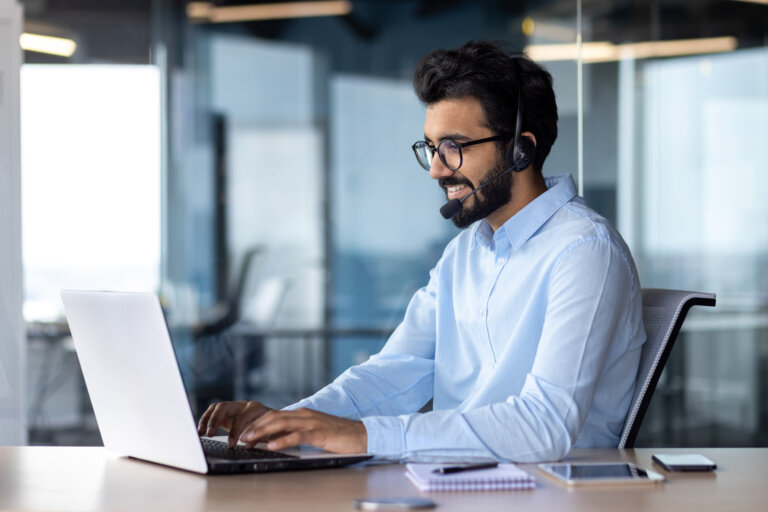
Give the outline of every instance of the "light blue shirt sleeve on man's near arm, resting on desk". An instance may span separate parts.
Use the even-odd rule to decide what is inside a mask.
[[[458,453],[517,462],[564,457],[584,424],[609,352],[637,349],[615,362],[626,365],[618,374],[634,387],[639,347],[623,339],[630,331],[622,326],[636,323],[641,290],[623,251],[610,241],[586,240],[559,257],[548,292],[533,367],[519,395],[465,411],[365,417],[369,452],[411,460]]]

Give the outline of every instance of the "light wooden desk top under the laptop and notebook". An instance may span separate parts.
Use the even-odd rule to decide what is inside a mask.
[[[654,452],[703,453],[707,474],[670,473],[642,488],[567,489],[538,472],[529,491],[436,492],[439,511],[763,511],[768,510],[768,449],[578,451],[578,461],[627,460],[651,466]],[[658,468],[657,468],[658,469]],[[418,496],[399,465],[206,477],[117,457],[102,448],[0,448],[2,510],[351,511],[355,498]]]

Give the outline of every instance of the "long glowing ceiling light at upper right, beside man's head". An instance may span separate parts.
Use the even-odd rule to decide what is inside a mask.
[[[767,0],[768,1],[768,0]],[[587,63],[611,62],[621,59],[651,59],[702,53],[730,52],[736,49],[735,37],[704,39],[678,39],[673,41],[646,41],[613,44],[609,42],[582,43],[582,60]],[[525,53],[534,61],[576,60],[576,43],[530,45]]]

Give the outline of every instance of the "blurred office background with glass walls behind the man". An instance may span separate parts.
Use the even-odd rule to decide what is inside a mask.
[[[285,405],[375,353],[456,234],[410,150],[412,70],[483,38],[553,74],[544,174],[581,167],[643,286],[718,294],[638,446],[768,444],[768,2],[370,0],[230,23],[209,17],[258,2],[21,3],[25,32],[76,48],[23,53],[26,340],[16,368],[2,333],[0,419],[25,428],[0,442],[100,443],[61,288],[158,292],[198,412]]]

